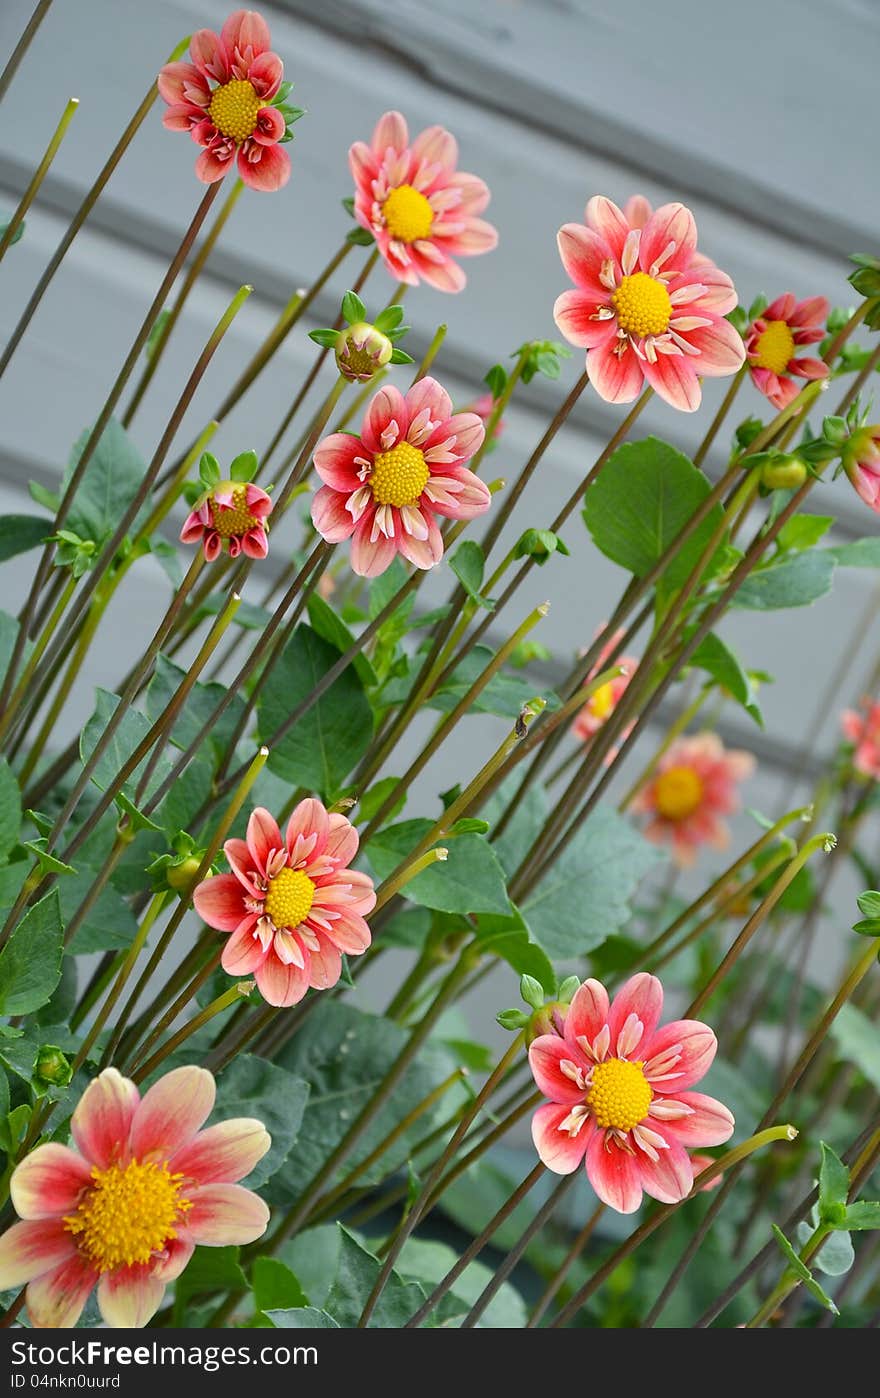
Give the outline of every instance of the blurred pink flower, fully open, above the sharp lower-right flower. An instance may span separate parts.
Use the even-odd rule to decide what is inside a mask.
[[[739,809],[737,784],[754,772],[750,752],[726,749],[715,733],[677,738],[632,802],[649,815],[649,840],[672,844],[676,864],[687,868],[701,844],[723,850],[730,832],[723,815]]]

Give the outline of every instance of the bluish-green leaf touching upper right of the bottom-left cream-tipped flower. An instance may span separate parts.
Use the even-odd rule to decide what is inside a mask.
[[[248,1176],[249,1188],[262,1188],[287,1160],[297,1144],[308,1096],[308,1082],[256,1054],[239,1054],[220,1074],[217,1121],[256,1117],[271,1137],[271,1146]]]

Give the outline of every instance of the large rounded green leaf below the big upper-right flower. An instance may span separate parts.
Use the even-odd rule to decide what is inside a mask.
[[[644,577],[709,493],[707,477],[681,452],[646,438],[620,446],[586,492],[583,520],[596,547]],[[716,505],[670,563],[666,587],[679,587],[722,519]]]

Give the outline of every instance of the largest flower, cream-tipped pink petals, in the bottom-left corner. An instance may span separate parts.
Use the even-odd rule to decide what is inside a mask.
[[[204,1068],[175,1068],[143,1097],[105,1068],[70,1121],[76,1149],[53,1141],[15,1167],[22,1222],[0,1237],[0,1289],[27,1283],[32,1325],[76,1325],[97,1286],[108,1325],[143,1327],[196,1244],[266,1232],[269,1209],[238,1181],[271,1139],[250,1117],[203,1131],[213,1106]]]

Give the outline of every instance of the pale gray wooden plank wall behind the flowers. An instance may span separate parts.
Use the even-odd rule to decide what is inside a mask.
[[[3,337],[168,52],[194,28],[220,28],[231,4],[56,0],[0,113],[0,208],[14,207],[66,99],[80,96],[81,106],[27,235],[3,267]],[[15,42],[31,8],[32,0],[4,0],[0,52]],[[788,289],[846,303],[846,254],[877,252],[874,0],[274,0],[262,8],[285,75],[295,80],[292,99],[308,108],[288,147],[292,179],[277,196],[245,192],[239,201],[136,419],[144,453],[234,289],[248,281],[255,295],[197,394],[183,429],[187,439],[210,418],[291,289],[308,285],[339,246],[348,226],[340,207],[350,193],[347,147],[367,137],[389,106],[400,108],[414,130],[449,126],[463,168],[492,189],[488,217],[501,243],[497,253],[469,261],[466,294],[418,289],[407,299],[417,350],[438,322],[448,322],[437,372],[459,401],[478,391],[488,365],[523,340],[555,334],[551,306],[565,278],[554,235],[564,221],[582,217],[592,193],[623,201],[641,192],[655,203],[688,203],[701,245],[733,274],[746,303],[760,291],[774,296]],[[201,194],[194,155],[187,140],[162,129],[157,105],[77,238],[0,383],[0,507],[28,510],[27,481],[55,480],[70,443],[97,414]],[[332,319],[364,256],[357,250],[350,257],[309,324]],[[389,289],[386,274],[376,273],[374,303],[383,303]],[[264,447],[311,362],[306,329],[291,337],[224,425],[220,457]],[[562,383],[539,380],[522,393],[492,457],[494,474],[515,475],[579,368],[572,359]],[[707,386],[707,414],[719,393],[718,383]],[[762,408],[751,389],[741,401],[743,408]],[[655,401],[644,428],[687,450],[707,414],[690,418]],[[620,410],[590,393],[583,397],[530,488],[530,523],[548,523],[618,419]],[[722,454],[723,443],[709,470]],[[844,538],[876,528],[845,482],[821,487],[814,509],[837,514]],[[572,558],[536,570],[509,618],[513,624],[548,597],[553,611],[540,639],[560,663],[609,615],[621,584],[578,520],[567,538]],[[3,569],[7,608],[27,587],[27,562]],[[449,582],[448,569],[438,569],[428,593],[443,597]],[[262,590],[256,579],[255,596]],[[813,608],[740,612],[725,625],[747,665],[776,675],[764,693],[765,733],[737,714],[725,720],[730,741],[761,756],[750,804],[776,809],[792,779],[800,781],[792,798],[802,797],[804,780],[834,745],[834,713],[809,748],[804,734],[856,626],[865,630],[865,647],[848,700],[870,668],[876,597],[870,573],[838,572],[832,596]],[[146,562],[108,617],[88,684],[74,695],[71,724],[91,710],[91,684],[112,688],[165,601],[166,583]],[[495,721],[473,721],[456,776],[473,770],[497,734]],[[423,783],[425,802],[448,780],[443,755]],[[743,818],[737,836],[753,829]],[[835,907],[841,938],[851,913],[852,884],[842,881]]]

